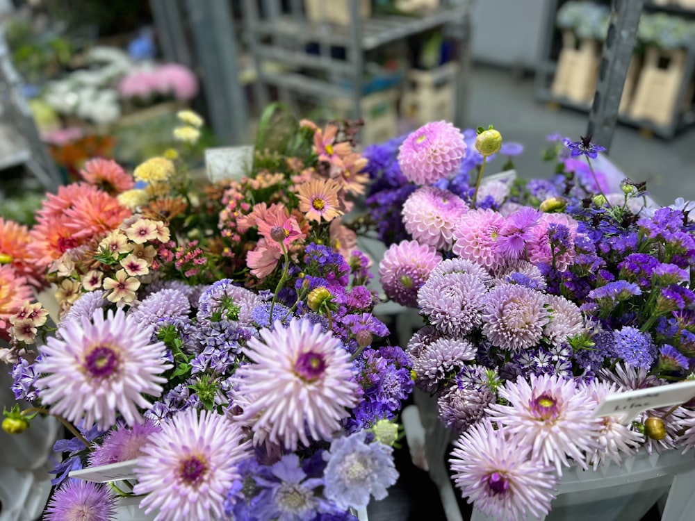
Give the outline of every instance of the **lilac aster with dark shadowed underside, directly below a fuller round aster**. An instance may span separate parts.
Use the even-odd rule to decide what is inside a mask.
[[[477,349],[464,338],[439,338],[420,350],[413,361],[417,386],[425,392],[434,392],[451,374],[461,370],[466,361],[475,360]]]

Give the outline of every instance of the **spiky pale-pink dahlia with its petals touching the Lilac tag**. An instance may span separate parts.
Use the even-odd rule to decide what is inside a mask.
[[[491,405],[491,421],[504,424],[503,431],[532,447],[532,458],[554,463],[561,476],[561,465],[570,465],[568,456],[587,469],[584,453],[598,447],[600,427],[591,415],[596,405],[584,386],[555,375],[532,374],[530,383],[523,377],[507,381],[498,395],[509,405]]]

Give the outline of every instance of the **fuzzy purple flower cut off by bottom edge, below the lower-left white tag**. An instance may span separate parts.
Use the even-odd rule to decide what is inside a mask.
[[[111,521],[116,517],[116,498],[111,488],[93,481],[65,481],[49,501],[46,521]]]

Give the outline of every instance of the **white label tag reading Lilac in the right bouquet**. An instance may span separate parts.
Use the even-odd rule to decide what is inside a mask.
[[[642,411],[685,404],[692,397],[695,397],[695,380],[621,392],[605,397],[594,410],[594,416],[623,415],[627,424]]]

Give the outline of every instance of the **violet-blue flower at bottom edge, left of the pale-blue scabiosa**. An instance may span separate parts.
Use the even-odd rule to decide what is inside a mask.
[[[268,500],[257,505],[260,519],[310,520],[327,507],[316,490],[323,486],[323,480],[308,478],[297,454],[282,456],[270,467],[270,474],[270,479],[256,478],[256,483],[269,491]]]

